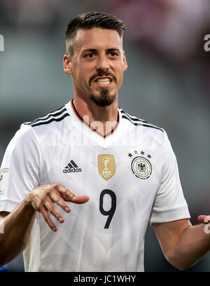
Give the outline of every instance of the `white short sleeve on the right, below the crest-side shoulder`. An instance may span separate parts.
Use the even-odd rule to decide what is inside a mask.
[[[176,156],[166,132],[164,160],[162,182],[153,203],[151,224],[190,218],[188,205],[183,196]]]

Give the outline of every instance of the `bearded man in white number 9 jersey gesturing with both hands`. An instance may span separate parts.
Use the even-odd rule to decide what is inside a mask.
[[[179,269],[209,251],[204,224],[189,222],[165,130],[118,109],[123,32],[106,13],[69,22],[74,98],[23,124],[1,165],[0,265],[24,250],[25,271],[144,271],[148,222]]]

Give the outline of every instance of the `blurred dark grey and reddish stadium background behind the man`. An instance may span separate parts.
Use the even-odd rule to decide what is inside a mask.
[[[124,20],[128,70],[120,107],[167,130],[179,163],[191,222],[209,214],[209,0],[0,0],[0,161],[20,124],[73,97],[64,74],[64,33],[78,13],[106,11]],[[8,271],[24,271],[22,255]],[[148,226],[145,271],[178,271]],[[210,254],[188,271],[210,271]]]

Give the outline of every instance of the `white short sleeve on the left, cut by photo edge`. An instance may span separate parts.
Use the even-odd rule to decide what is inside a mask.
[[[31,126],[23,126],[8,144],[1,163],[0,212],[12,212],[40,182],[40,145]]]

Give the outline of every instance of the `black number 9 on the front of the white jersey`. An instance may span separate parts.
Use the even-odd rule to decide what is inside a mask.
[[[109,195],[111,196],[111,209],[110,210],[104,210],[104,195]],[[117,198],[116,198],[116,194],[111,191],[111,190],[103,190],[101,195],[100,195],[100,204],[99,204],[99,209],[100,212],[102,212],[102,214],[104,215],[109,215],[106,224],[104,226],[104,229],[109,229],[109,225],[111,223],[111,219],[113,218],[113,214],[116,211],[116,202],[117,202]]]

